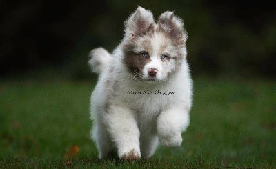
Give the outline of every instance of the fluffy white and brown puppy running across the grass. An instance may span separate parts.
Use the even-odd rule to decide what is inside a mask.
[[[99,73],[90,111],[100,159],[114,150],[123,160],[147,159],[159,142],[181,145],[192,102],[183,26],[173,12],[155,23],[150,10],[138,7],[112,54],[90,52],[88,63]]]

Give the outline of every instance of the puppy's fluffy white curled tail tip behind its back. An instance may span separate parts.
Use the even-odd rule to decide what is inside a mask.
[[[89,61],[88,64],[92,70],[97,74],[101,74],[103,70],[108,67],[111,59],[111,54],[105,50],[104,48],[95,48],[89,53]]]

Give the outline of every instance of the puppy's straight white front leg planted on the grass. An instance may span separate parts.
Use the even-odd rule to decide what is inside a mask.
[[[130,161],[140,159],[140,133],[132,110],[123,106],[110,106],[105,119],[118,148],[119,158]]]

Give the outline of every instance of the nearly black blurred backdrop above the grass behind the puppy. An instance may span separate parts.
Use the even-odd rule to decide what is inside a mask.
[[[189,34],[194,76],[276,77],[273,1],[0,1],[0,75],[87,78],[88,52],[112,52],[137,6],[166,10]]]

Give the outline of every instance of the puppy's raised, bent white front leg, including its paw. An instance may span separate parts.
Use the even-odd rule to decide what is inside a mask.
[[[181,132],[186,130],[190,123],[190,108],[170,106],[161,112],[157,119],[157,134],[164,146],[180,146]]]

